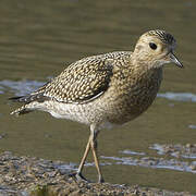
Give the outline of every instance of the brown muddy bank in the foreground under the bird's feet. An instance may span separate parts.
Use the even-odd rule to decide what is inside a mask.
[[[188,196],[137,185],[76,182],[70,177],[74,166],[30,157],[17,157],[10,151],[0,155],[0,196],[64,196],[64,195],[143,195]]]

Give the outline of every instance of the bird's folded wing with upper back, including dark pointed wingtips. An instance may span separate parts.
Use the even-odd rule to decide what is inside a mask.
[[[65,103],[89,102],[108,89],[114,64],[121,65],[122,59],[130,56],[131,52],[111,52],[84,58],[38,90],[12,99],[25,103],[50,99]]]

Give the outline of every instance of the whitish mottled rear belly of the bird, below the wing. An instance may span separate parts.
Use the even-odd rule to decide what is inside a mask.
[[[30,106],[29,103],[29,108],[49,112],[57,119],[68,119],[87,125],[90,125],[93,123],[105,124],[107,122],[105,106],[96,102],[75,105],[45,101],[37,103],[34,102],[34,106]],[[109,127],[111,125],[109,125],[108,122],[108,124],[106,124],[105,126]]]

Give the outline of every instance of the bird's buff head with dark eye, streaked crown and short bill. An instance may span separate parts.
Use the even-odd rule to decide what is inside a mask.
[[[174,56],[176,41],[174,37],[164,30],[149,30],[143,34],[133,52],[133,58],[147,62],[150,68],[161,68],[166,63],[175,63],[183,68]]]

